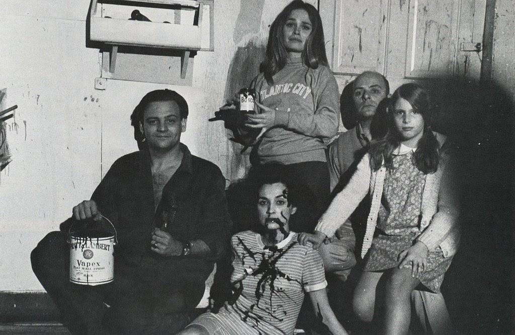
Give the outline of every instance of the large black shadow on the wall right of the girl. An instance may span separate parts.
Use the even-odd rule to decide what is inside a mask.
[[[438,79],[425,86],[435,131],[456,144],[461,181],[461,246],[442,285],[464,333],[513,331],[515,110],[495,84]]]

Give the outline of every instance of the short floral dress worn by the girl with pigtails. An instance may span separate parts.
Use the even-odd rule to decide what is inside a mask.
[[[381,207],[372,246],[365,257],[365,271],[384,271],[398,266],[398,255],[420,235],[422,193],[425,175],[413,164],[413,151],[393,156],[393,170],[386,172]],[[427,289],[440,291],[452,257],[443,257],[440,247],[430,250],[419,280]]]

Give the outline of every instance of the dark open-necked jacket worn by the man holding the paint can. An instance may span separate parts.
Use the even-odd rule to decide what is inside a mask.
[[[187,290],[189,306],[200,300],[215,260],[229,243],[230,227],[224,176],[215,164],[193,156],[184,144],[181,150],[181,165],[163,188],[157,207],[146,150],[117,159],[92,200],[116,228],[115,270],[124,267],[135,271],[139,281]],[[201,239],[212,254],[163,257],[150,251],[152,230],[164,221],[173,237]]]

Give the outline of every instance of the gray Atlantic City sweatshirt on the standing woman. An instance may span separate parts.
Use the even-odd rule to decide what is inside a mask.
[[[340,95],[332,71],[307,67],[291,59],[276,75],[274,85],[260,73],[251,84],[259,102],[278,108],[274,126],[258,146],[260,163],[325,162],[324,139],[336,135]]]

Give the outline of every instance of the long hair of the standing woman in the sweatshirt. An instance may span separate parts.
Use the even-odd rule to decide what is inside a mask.
[[[328,65],[327,55],[325,55],[322,20],[318,10],[302,0],[294,0],[284,7],[270,26],[266,46],[266,59],[261,63],[260,69],[265,73],[265,79],[269,85],[273,84],[272,76],[286,65],[288,51],[284,45],[284,25],[291,11],[295,9],[304,9],[310,17],[312,25],[311,34],[306,40],[304,51],[302,51],[302,62],[314,69],[318,65]]]

